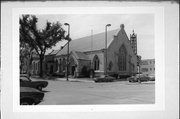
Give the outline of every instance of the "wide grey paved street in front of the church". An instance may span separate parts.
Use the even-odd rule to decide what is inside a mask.
[[[40,105],[68,104],[152,104],[155,102],[154,82],[129,83],[117,81],[94,83],[89,80],[48,80],[44,101]]]

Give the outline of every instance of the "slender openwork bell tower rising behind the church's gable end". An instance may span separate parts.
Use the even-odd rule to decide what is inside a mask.
[[[137,34],[134,33],[134,30],[133,33],[130,34],[130,43],[134,53],[137,54]]]

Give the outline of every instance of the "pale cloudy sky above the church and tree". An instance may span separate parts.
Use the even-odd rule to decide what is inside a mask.
[[[70,24],[70,37],[72,40],[84,36],[105,32],[106,24],[111,24],[108,30],[120,29],[125,25],[125,31],[129,37],[132,31],[137,34],[137,52],[142,59],[154,58],[154,14],[59,14],[36,15],[38,28],[45,27],[47,21],[61,24]],[[63,25],[67,31],[67,26]],[[54,50],[63,46],[65,42],[59,42]],[[50,52],[50,51],[48,51]]]

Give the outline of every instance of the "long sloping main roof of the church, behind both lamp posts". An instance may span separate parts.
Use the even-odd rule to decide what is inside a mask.
[[[112,42],[114,36],[118,34],[119,30],[120,29],[116,29],[107,32],[107,44],[110,44]],[[69,52],[73,50],[80,52],[101,50],[104,49],[104,47],[105,47],[105,32],[70,41]],[[65,55],[65,54],[67,54],[67,45],[61,51],[59,51],[56,54],[56,56]]]

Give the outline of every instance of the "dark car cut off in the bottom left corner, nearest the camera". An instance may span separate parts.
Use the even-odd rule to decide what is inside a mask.
[[[29,87],[20,87],[20,105],[37,105],[44,98],[44,93]]]

